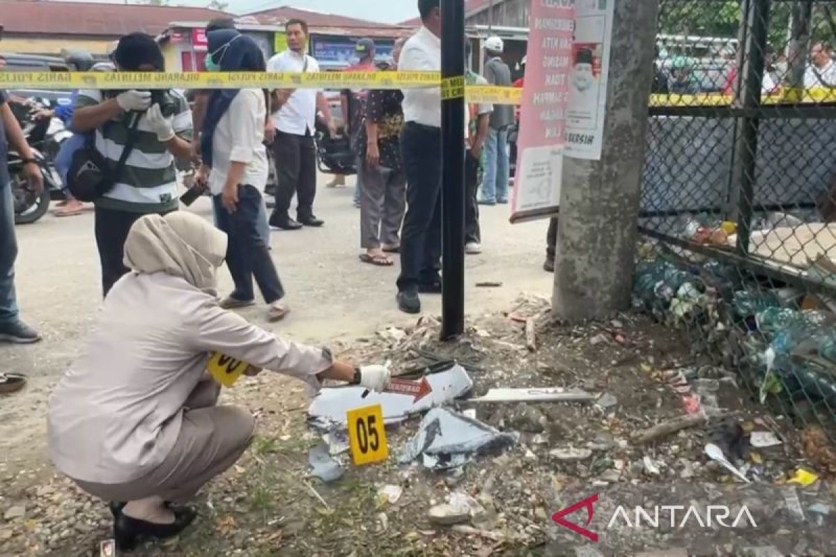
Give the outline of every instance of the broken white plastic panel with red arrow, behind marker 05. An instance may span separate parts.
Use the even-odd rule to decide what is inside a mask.
[[[380,404],[384,423],[399,423],[410,414],[449,403],[473,388],[472,379],[458,364],[446,371],[431,373],[426,379],[432,391],[417,401],[411,395],[396,392],[370,392],[363,398],[364,387],[326,387],[314,397],[308,407],[308,417],[318,427],[327,428],[334,423],[344,426],[349,410]]]

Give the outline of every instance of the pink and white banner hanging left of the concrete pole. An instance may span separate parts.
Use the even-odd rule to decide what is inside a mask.
[[[548,217],[560,203],[574,0],[533,0],[511,220]]]

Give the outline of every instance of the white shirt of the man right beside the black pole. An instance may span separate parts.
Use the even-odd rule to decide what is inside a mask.
[[[400,52],[402,72],[441,71],[441,39],[422,27]],[[404,89],[404,121],[441,128],[441,88]]]

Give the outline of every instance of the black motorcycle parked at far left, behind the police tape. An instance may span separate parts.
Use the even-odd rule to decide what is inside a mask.
[[[40,219],[49,210],[50,200],[63,200],[61,177],[52,162],[61,143],[72,135],[60,119],[36,118],[43,109],[48,108],[47,102],[28,99],[13,106],[13,113],[18,118],[29,146],[32,148],[33,158],[43,175],[43,191],[35,193],[23,175],[23,160],[15,151],[8,153],[8,173],[14,201],[14,224],[26,225]]]

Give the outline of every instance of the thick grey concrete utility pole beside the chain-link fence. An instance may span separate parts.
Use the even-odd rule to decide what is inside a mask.
[[[553,313],[568,322],[630,307],[659,0],[614,10],[601,160],[563,159]]]

